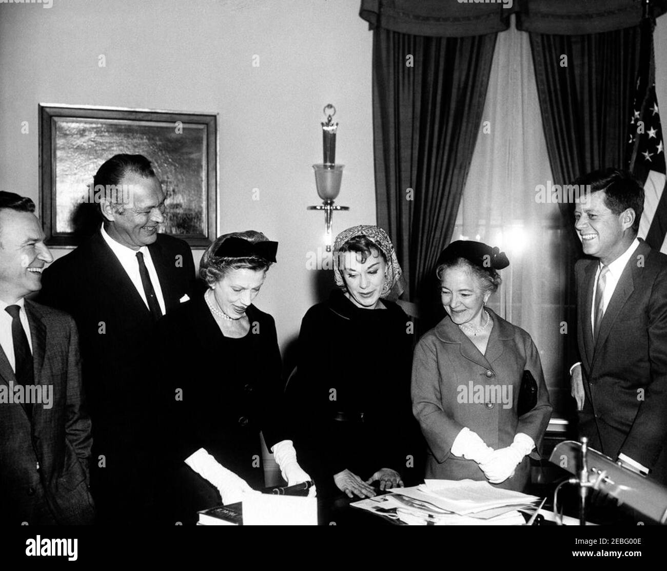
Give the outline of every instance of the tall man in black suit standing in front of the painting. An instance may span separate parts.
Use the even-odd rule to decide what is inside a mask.
[[[155,451],[155,322],[193,295],[189,246],[158,234],[165,196],[151,163],[115,155],[95,174],[102,223],[56,260],[39,300],[79,327],[83,381],[93,420],[92,492],[101,523],[138,522],[151,504]]]

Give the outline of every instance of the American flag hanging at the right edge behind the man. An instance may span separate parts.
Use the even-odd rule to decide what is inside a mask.
[[[654,21],[644,19],[628,154],[630,170],[644,182],[644,214],[638,236],[654,250],[667,254],[667,176],[656,98],[653,27]]]

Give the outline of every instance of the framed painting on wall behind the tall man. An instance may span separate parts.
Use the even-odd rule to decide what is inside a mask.
[[[49,246],[76,246],[101,224],[93,176],[115,154],[151,161],[165,193],[160,232],[205,248],[216,234],[217,115],[39,105],[39,188]]]

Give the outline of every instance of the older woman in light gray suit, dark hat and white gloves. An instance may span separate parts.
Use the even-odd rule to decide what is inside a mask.
[[[426,478],[524,490],[528,456],[540,458],[552,411],[540,355],[526,331],[484,307],[509,264],[498,248],[461,240],[436,263],[447,315],[420,339],[412,365]]]

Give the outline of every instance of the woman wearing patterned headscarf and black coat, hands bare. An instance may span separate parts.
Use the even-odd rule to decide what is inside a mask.
[[[412,324],[388,300],[402,293],[402,271],[382,228],[348,228],[333,249],[338,289],[303,317],[287,393],[299,460],[318,496],[366,498],[374,482],[403,485]]]

